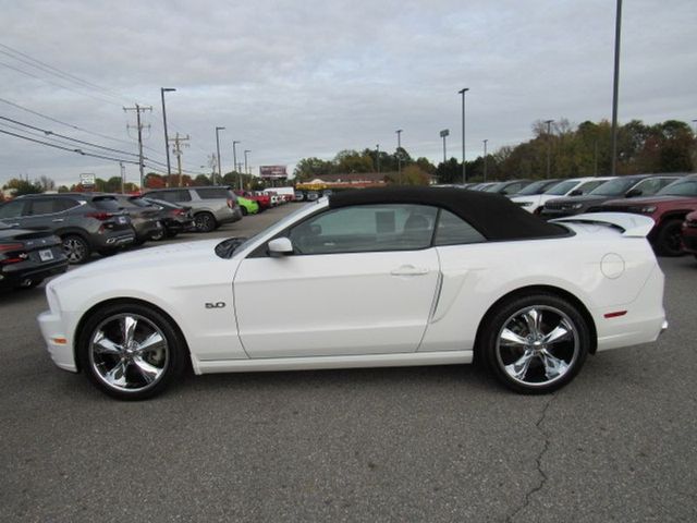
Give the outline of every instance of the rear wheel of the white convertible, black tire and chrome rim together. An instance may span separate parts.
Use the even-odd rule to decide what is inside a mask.
[[[511,390],[543,394],[574,379],[589,348],[590,329],[576,307],[538,293],[500,304],[485,321],[477,351]]]

